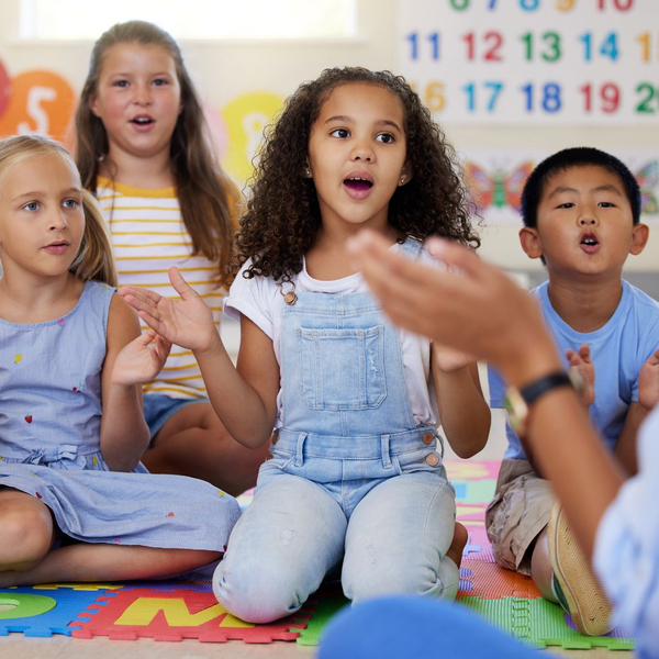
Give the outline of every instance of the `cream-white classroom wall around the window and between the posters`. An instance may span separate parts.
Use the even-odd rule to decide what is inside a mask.
[[[135,0],[138,2],[138,0]],[[276,0],[265,0],[276,1]],[[79,91],[88,66],[91,42],[42,43],[19,40],[20,0],[0,0],[0,59],[11,75],[47,68],[65,76]],[[102,11],[102,4],[99,5]],[[359,0],[359,37],[325,42],[183,42],[188,67],[202,97],[223,108],[237,96],[291,93],[325,67],[361,65],[376,69],[395,66],[395,0]],[[75,16],[71,18],[75,21]],[[153,20],[157,22],[157,16]],[[203,20],[203,16],[200,16]],[[458,150],[538,149],[591,145],[610,150],[657,149],[659,130],[647,127],[488,126],[446,124]],[[487,219],[485,219],[487,220]],[[511,269],[539,269],[518,246],[515,223],[483,230],[482,254]],[[652,227],[643,255],[630,258],[630,270],[659,270],[659,223]]]

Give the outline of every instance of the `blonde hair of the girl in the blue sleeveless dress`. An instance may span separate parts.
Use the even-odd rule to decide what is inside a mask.
[[[22,160],[51,155],[56,155],[74,167],[76,166],[72,156],[66,148],[49,137],[14,135],[0,139],[0,177]],[[116,286],[116,270],[103,213],[93,194],[85,189],[82,190],[82,211],[85,213],[85,233],[69,271],[81,281],[94,279]]]

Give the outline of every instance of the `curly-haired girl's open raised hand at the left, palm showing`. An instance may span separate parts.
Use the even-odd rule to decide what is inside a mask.
[[[180,300],[130,286],[120,288],[119,292],[149,327],[170,343],[193,351],[208,350],[220,339],[211,310],[186,283],[178,268],[169,269],[169,281]]]

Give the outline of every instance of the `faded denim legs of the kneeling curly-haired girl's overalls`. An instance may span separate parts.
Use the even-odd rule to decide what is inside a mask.
[[[354,487],[368,493],[348,516],[337,495],[349,500],[349,487],[332,493],[273,472],[234,527],[215,571],[219,602],[244,621],[278,619],[298,611],[342,557],[343,589],[355,602],[391,593],[454,599],[458,568],[445,556],[454,536],[453,487],[424,471]]]

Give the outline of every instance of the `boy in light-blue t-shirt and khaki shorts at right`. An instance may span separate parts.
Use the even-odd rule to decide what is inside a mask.
[[[632,476],[636,432],[655,395],[643,383],[659,348],[659,304],[622,278],[627,256],[640,254],[648,241],[649,230],[639,222],[638,183],[614,156],[568,148],[530,174],[522,215],[522,247],[529,258],[543,259],[549,275],[532,292],[566,366],[588,382],[582,399],[591,422]],[[490,390],[492,406],[502,406],[505,388],[495,372]],[[506,434],[509,447],[485,517],[496,562],[530,574],[543,596],[561,604],[583,634],[608,632],[608,603],[572,547],[549,482],[510,422]]]

